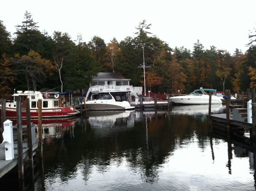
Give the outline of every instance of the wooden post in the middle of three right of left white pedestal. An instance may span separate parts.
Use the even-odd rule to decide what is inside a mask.
[[[33,143],[32,143],[32,131],[31,131],[31,114],[30,114],[30,101],[26,99],[26,119],[28,130],[28,163],[30,168],[30,176],[34,177],[34,160],[33,160]]]

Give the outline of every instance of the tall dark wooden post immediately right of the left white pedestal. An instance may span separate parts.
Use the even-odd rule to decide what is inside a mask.
[[[24,190],[24,160],[23,160],[23,145],[22,145],[22,113],[21,113],[21,97],[15,96],[17,108],[17,145],[18,145],[18,177],[19,188]]]

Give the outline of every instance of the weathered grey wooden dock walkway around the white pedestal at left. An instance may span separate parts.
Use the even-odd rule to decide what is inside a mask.
[[[39,139],[36,138],[36,141],[33,144],[33,151],[38,147]],[[28,157],[28,149],[23,148],[23,158]],[[18,165],[18,149],[14,148],[14,159],[5,160],[5,149],[4,144],[0,143],[0,178],[4,176],[8,171],[12,170],[16,165]]]

